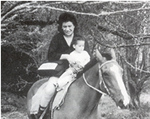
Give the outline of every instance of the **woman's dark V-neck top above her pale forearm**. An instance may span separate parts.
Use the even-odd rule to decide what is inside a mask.
[[[77,34],[74,34],[74,36]],[[73,38],[74,40],[74,38]],[[72,40],[72,42],[73,42]],[[61,33],[56,34],[49,46],[48,50],[48,61],[57,61],[60,59],[62,54],[70,54],[74,50],[73,45],[68,46],[66,40]],[[85,50],[90,54],[89,45],[85,42]]]

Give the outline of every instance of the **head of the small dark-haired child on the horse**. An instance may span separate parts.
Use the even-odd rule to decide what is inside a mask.
[[[84,50],[85,39],[82,36],[75,36],[73,41],[73,48],[78,53],[81,53]]]

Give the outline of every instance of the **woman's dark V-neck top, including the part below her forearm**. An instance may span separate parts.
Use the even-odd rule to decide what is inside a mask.
[[[74,34],[74,37],[77,34]],[[72,40],[72,43],[74,41],[74,38]],[[66,40],[64,39],[63,35],[61,33],[56,34],[49,46],[48,50],[48,61],[49,62],[57,62],[58,66],[56,67],[56,71],[58,73],[54,74],[54,76],[59,77],[62,75],[62,73],[69,67],[69,63],[67,60],[60,60],[60,57],[62,54],[70,54],[74,48],[73,44],[71,43],[70,46],[68,46]],[[85,41],[85,50],[90,55],[89,45],[87,41]],[[49,73],[50,74],[50,73]]]

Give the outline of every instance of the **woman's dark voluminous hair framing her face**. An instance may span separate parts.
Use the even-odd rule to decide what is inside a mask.
[[[76,28],[77,28],[77,20],[76,20],[75,16],[72,13],[65,12],[65,13],[62,13],[59,16],[59,20],[58,20],[58,24],[59,24],[58,31],[59,32],[63,33],[63,31],[62,31],[62,24],[64,22],[68,22],[68,21],[73,23],[73,25],[75,26],[75,30],[76,30]]]

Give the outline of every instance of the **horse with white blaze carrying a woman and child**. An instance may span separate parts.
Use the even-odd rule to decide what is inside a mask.
[[[115,54],[112,53],[111,56],[112,58],[108,60],[96,50],[96,58],[71,84],[61,108],[53,112],[53,118],[47,116],[44,119],[99,119],[98,104],[102,94],[108,94],[118,107],[127,108],[130,96],[123,82],[123,70],[116,61]],[[38,80],[28,92],[29,119],[34,119],[29,113],[32,97],[47,80],[47,78]]]

